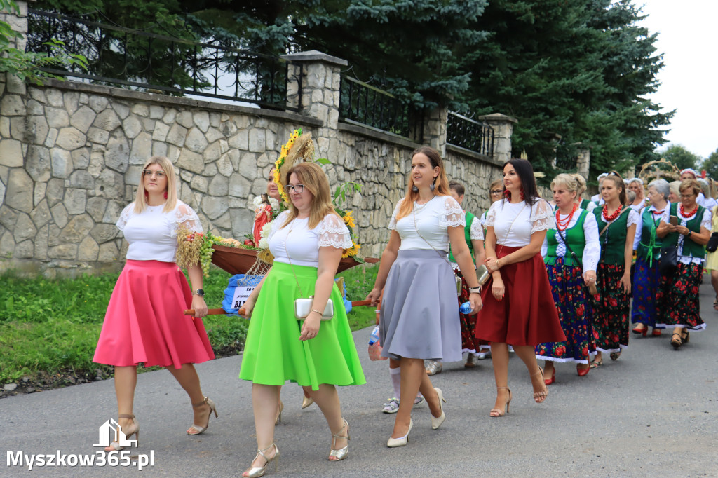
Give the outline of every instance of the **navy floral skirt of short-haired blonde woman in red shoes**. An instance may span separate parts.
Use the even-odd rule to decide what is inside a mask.
[[[596,339],[582,268],[565,266],[563,258],[556,259],[553,266],[546,268],[566,340],[536,345],[536,358],[554,362],[588,363],[590,355],[596,353]]]

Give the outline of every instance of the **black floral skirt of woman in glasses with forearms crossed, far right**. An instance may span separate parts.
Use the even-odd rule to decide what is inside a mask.
[[[656,294],[656,327],[706,328],[701,319],[698,289],[703,278],[702,263],[678,263],[671,276],[661,276]]]

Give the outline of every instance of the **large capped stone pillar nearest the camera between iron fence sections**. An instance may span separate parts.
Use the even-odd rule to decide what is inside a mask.
[[[326,128],[336,129],[339,122],[340,73],[341,68],[348,65],[347,60],[317,50],[282,55],[282,58],[292,61],[288,69],[286,105],[323,121]]]

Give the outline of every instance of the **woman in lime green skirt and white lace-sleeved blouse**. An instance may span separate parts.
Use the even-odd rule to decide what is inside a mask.
[[[257,454],[243,477],[263,476],[279,458],[274,421],[287,380],[311,387],[332,434],[330,461],[345,459],[349,449],[349,423],[335,385],[366,383],[334,283],[342,250],[352,246],[349,230],[334,211],[329,181],[317,164],[299,163],[286,177],[289,210],[274,220],[269,235],[274,265],[244,304],[251,321],[239,378],[253,382]],[[297,320],[294,299],[310,297],[309,314]],[[322,319],[329,299],[333,316]]]

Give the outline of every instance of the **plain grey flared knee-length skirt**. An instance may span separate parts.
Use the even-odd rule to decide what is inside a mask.
[[[381,301],[381,355],[461,360],[456,298],[454,273],[437,251],[399,250]]]

